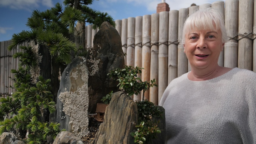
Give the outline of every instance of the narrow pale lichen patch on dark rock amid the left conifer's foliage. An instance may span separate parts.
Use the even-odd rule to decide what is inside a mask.
[[[29,72],[31,74],[32,83],[37,83],[37,78],[40,76],[40,66],[39,64],[42,62],[42,55],[38,53],[39,50],[39,44],[35,45],[34,41],[30,41],[28,45],[32,48],[33,57],[36,59],[36,65],[31,66],[29,69]]]

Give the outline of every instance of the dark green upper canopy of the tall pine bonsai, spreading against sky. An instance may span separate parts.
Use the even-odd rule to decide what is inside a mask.
[[[37,55],[41,57],[42,63],[39,63],[40,69],[36,71],[39,74],[35,78],[42,75],[51,79],[54,101],[59,90],[59,73],[63,72],[75,56],[86,56],[85,23],[91,24],[94,29],[100,27],[104,21],[115,26],[108,13],[88,7],[92,2],[93,0],[64,0],[64,8],[57,3],[50,10],[34,10],[26,24],[31,30],[13,34],[11,44],[7,48],[13,50],[23,42],[31,42],[31,47],[38,45]],[[75,26],[82,27],[84,33],[75,35],[78,33]],[[83,42],[75,44],[75,37],[83,39]],[[31,56],[30,48],[22,49],[24,55],[21,66],[26,65],[28,69],[38,64]],[[20,55],[18,57],[21,58]]]

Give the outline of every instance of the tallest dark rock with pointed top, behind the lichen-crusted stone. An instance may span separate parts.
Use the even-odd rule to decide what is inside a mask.
[[[124,67],[124,52],[122,50],[121,37],[118,31],[108,22],[103,22],[99,31],[94,36],[93,49],[87,53],[87,61],[100,60],[98,72],[89,76],[89,113],[95,113],[97,103],[110,91],[118,91],[118,81],[109,78],[110,70]],[[94,64],[87,62],[89,72],[92,72]]]

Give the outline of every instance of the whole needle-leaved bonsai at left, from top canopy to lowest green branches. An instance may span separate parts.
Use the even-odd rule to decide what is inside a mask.
[[[15,53],[20,58],[18,70],[11,79],[15,81],[12,96],[1,98],[0,133],[20,132],[29,143],[45,143],[48,135],[53,138],[60,132],[59,124],[49,124],[49,113],[55,111],[59,90],[59,73],[75,56],[86,55],[86,42],[75,43],[74,37],[84,39],[76,28],[89,23],[95,29],[103,21],[115,26],[113,18],[107,13],[92,10],[88,5],[93,0],[64,0],[50,10],[34,10],[28,18],[30,31],[13,34],[8,50],[18,46],[22,51]],[[84,37],[83,37],[84,36]],[[23,42],[28,46],[20,46]]]

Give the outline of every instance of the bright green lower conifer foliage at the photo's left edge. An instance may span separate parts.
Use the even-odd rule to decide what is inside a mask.
[[[43,121],[46,110],[55,112],[50,79],[39,76],[38,82],[33,84],[30,74],[23,67],[11,72],[15,74],[12,80],[15,81],[16,91],[12,97],[0,99],[0,134],[11,129],[23,130],[29,132],[26,141],[33,144],[46,141],[48,135],[55,138],[60,132],[59,124]]]

